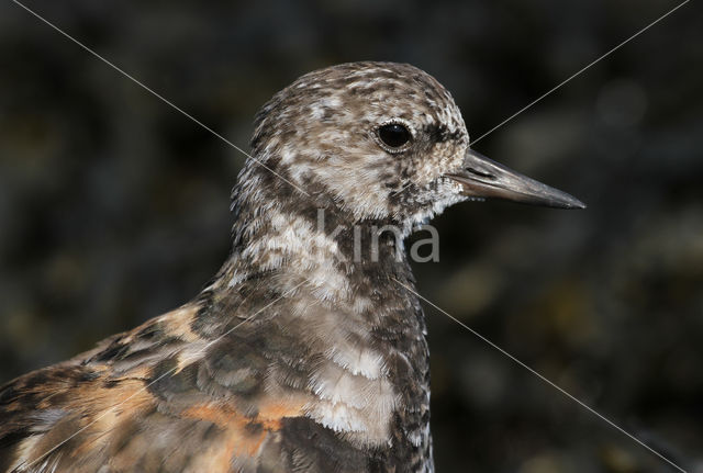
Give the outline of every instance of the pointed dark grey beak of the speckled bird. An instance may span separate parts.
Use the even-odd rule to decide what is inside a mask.
[[[467,149],[464,169],[446,174],[464,187],[464,195],[505,199],[533,205],[557,209],[585,209],[572,195],[520,174],[472,149]]]

